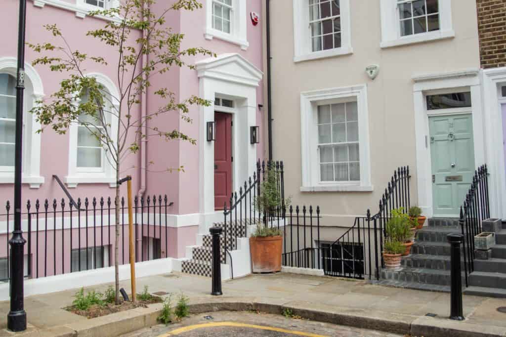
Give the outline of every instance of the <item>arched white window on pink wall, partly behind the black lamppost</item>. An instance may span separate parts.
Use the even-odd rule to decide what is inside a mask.
[[[16,68],[15,58],[0,58],[0,183],[14,183],[14,148],[16,130]],[[40,76],[25,64],[23,103],[23,176],[22,182],[38,188],[40,177],[40,124],[29,111],[44,97]]]

